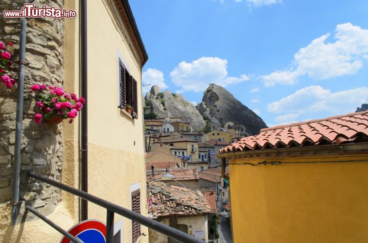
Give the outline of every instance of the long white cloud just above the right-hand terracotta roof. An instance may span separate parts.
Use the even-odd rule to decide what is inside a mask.
[[[297,90],[279,101],[268,104],[267,110],[287,114],[313,114],[323,111],[327,116],[342,115],[353,112],[355,107],[366,103],[367,98],[368,87],[331,92],[315,85]],[[275,119],[275,122],[280,122],[283,118],[285,116],[279,117],[279,120]]]

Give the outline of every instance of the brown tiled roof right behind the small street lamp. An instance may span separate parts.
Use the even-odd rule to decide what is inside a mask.
[[[169,168],[168,172],[174,176],[175,180],[198,180],[198,167],[197,166],[189,166],[184,168]],[[147,177],[152,178],[151,169],[147,169],[146,171]],[[157,180],[166,180],[162,179],[162,176],[166,174],[166,169],[155,169],[153,178]]]

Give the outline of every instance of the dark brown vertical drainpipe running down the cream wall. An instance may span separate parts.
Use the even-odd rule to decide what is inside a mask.
[[[88,99],[87,99],[87,0],[81,0],[81,90],[82,97],[85,99],[81,116],[81,189],[88,192]],[[88,219],[88,202],[84,199],[81,201],[81,220]]]

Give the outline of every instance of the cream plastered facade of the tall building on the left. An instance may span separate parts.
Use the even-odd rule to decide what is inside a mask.
[[[80,94],[81,10],[79,1],[63,2],[65,9],[73,9],[78,13],[77,18],[65,20],[62,50],[63,88],[67,92]],[[131,34],[135,23],[129,22],[126,18],[128,13],[122,6],[123,2],[128,4],[127,0],[87,1],[88,193],[131,209],[132,192],[140,190],[141,214],[146,216],[147,190],[141,88],[142,67],[146,60],[142,58],[145,51],[137,45],[137,40]],[[137,119],[118,108],[120,62],[137,81]],[[80,189],[80,122],[78,119],[73,124],[64,121],[55,129],[63,133],[61,182]],[[25,222],[20,223],[18,220],[15,227],[9,226],[10,209],[11,207],[5,204],[0,205],[1,242],[60,241],[62,235],[37,218],[27,220],[26,217]],[[79,198],[61,192],[61,202],[47,217],[67,230],[81,221],[80,212]],[[19,218],[21,216],[19,215]],[[105,223],[106,209],[88,203],[88,218]],[[132,222],[115,214],[114,223],[116,229],[121,230],[121,242],[132,242]],[[141,226],[140,233],[142,235],[139,241],[148,242],[148,228]]]

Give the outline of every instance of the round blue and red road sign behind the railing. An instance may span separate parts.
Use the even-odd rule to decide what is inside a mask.
[[[73,236],[80,238],[84,243],[106,243],[106,225],[97,220],[85,220],[67,231]],[[60,243],[71,243],[65,236]]]

